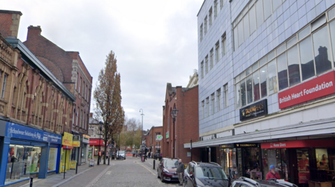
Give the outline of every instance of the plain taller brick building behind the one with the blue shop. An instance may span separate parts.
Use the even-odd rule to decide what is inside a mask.
[[[36,57],[54,74],[61,83],[77,98],[73,112],[72,133],[82,140],[83,135],[88,135],[89,109],[91,106],[92,76],[85,67],[79,52],[64,51],[56,44],[41,35],[40,26],[29,26],[27,40],[24,44]],[[81,155],[82,162],[87,161],[88,143],[81,141],[81,149],[76,154]],[[84,152],[84,154],[81,154]]]

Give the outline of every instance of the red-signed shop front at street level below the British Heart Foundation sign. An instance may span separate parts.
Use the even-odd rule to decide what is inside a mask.
[[[294,140],[262,143],[265,174],[274,165],[282,179],[299,186],[334,181],[335,140]]]

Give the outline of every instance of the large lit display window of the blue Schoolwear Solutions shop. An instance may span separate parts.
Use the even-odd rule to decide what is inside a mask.
[[[5,184],[29,179],[40,167],[40,147],[10,145]]]

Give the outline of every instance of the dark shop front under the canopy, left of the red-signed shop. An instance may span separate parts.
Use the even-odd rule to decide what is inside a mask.
[[[231,179],[262,179],[260,144],[232,143],[220,146],[221,166]]]

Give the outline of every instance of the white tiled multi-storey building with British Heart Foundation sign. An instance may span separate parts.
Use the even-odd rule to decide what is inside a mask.
[[[255,153],[236,145],[241,143],[254,143],[258,150],[253,159],[258,161],[277,142],[286,146],[277,150],[281,165],[285,156],[294,154],[300,156],[285,162],[308,153],[318,161],[320,146],[310,145],[306,151],[297,144],[334,138],[334,5],[333,0],[204,1],[198,13],[200,140],[193,147],[203,147],[203,152],[208,152],[204,147],[216,147],[213,158],[226,170],[235,166],[227,166],[227,150],[218,146],[232,148],[234,154]],[[321,146],[329,159],[333,146]],[[241,163],[235,163],[240,170]],[[334,170],[334,165],[328,167]],[[255,168],[265,177],[269,167],[258,163]],[[300,180],[288,173],[283,170],[281,176]],[[242,170],[239,175],[251,177]]]

